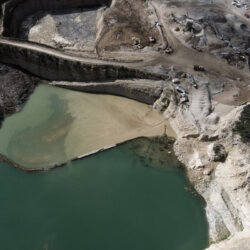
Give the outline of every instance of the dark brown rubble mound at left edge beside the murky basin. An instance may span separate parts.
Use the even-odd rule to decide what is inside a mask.
[[[35,88],[27,74],[11,66],[0,64],[0,120],[4,114],[20,110]]]

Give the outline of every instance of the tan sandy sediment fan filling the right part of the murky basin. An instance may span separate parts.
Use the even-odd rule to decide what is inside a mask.
[[[85,154],[140,136],[164,134],[163,115],[133,100],[73,92],[68,96],[68,103],[68,111],[73,117],[65,139],[66,154],[69,156]],[[173,136],[170,128],[168,134]],[[77,147],[74,146],[76,144]]]

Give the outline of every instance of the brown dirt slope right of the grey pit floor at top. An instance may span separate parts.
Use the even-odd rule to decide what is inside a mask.
[[[97,52],[117,51],[122,48],[132,49],[152,46],[149,37],[159,38],[152,13],[143,0],[115,0],[103,17],[102,36],[97,41]],[[135,42],[132,38],[136,38]]]

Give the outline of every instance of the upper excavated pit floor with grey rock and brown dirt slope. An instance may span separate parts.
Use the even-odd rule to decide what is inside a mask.
[[[108,9],[38,12],[22,22],[19,37],[71,53],[77,51],[91,56],[97,53],[110,57],[112,52],[134,52],[146,46],[153,47],[155,43],[159,44],[160,35],[145,1],[119,0],[113,1]],[[150,37],[155,43],[150,42]]]

